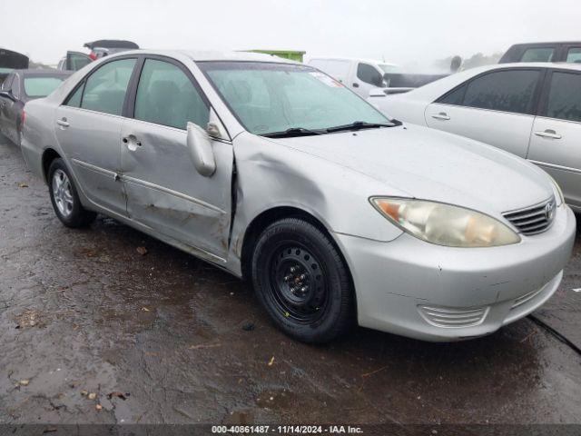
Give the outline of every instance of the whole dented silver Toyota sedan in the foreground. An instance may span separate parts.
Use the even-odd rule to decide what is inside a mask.
[[[265,54],[114,54],[25,112],[64,225],[104,213],[247,277],[301,341],[354,317],[430,341],[495,332],[556,291],[575,238],[537,166]]]

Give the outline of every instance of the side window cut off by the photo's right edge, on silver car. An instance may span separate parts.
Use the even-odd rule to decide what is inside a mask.
[[[547,116],[581,122],[581,74],[553,73],[548,93]]]

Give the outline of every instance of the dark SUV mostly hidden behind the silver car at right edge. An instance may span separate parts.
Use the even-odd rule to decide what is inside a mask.
[[[517,62],[581,63],[581,42],[532,43],[512,45],[498,64]]]

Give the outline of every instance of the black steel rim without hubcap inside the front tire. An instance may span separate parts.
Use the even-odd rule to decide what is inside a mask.
[[[325,274],[319,260],[304,246],[283,244],[271,258],[271,299],[286,318],[312,323],[328,303]]]

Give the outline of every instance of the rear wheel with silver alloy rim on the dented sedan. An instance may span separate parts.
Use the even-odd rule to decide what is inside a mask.
[[[48,169],[48,190],[54,213],[66,227],[84,227],[94,222],[97,214],[84,209],[73,178],[61,158],[54,159]]]

